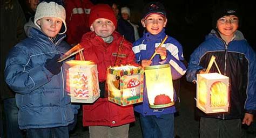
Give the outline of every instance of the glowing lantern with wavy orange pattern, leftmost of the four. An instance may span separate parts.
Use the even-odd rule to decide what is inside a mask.
[[[66,91],[72,103],[93,103],[99,98],[97,66],[90,61],[71,60],[64,63]]]

